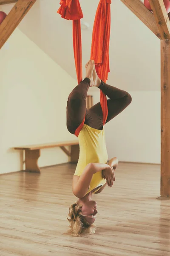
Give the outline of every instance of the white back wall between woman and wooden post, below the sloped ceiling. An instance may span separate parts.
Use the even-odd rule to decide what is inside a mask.
[[[160,163],[161,122],[159,91],[128,91],[132,103],[105,125],[108,158],[137,163]],[[94,104],[99,90],[91,91]]]

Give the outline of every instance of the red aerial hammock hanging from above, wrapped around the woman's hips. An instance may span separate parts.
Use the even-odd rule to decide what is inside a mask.
[[[96,72],[99,78],[106,82],[108,79],[109,68],[109,42],[111,30],[111,0],[100,0],[96,17],[94,21],[92,45],[91,45],[91,59],[96,65]],[[80,19],[83,17],[82,9],[79,0],[61,0],[60,8],[57,11],[62,18],[73,20],[73,46],[74,59],[77,72],[78,83],[82,81],[82,39],[81,39],[81,24]],[[103,125],[108,117],[108,105],[106,95],[100,90],[100,104],[103,112]],[[78,137],[85,122],[75,131]]]

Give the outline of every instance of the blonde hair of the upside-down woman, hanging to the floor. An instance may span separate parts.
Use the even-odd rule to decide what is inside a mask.
[[[91,235],[95,233],[96,225],[89,224],[81,213],[82,205],[77,201],[69,207],[69,230],[66,234],[71,236]]]

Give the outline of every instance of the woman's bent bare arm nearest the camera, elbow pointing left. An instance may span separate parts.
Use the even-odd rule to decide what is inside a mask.
[[[100,172],[108,168],[110,168],[110,166],[106,163],[89,163],[82,172],[82,175],[79,177],[79,180],[77,182],[73,181],[74,195],[77,196],[77,198],[83,198],[88,191],[93,175],[96,172]]]

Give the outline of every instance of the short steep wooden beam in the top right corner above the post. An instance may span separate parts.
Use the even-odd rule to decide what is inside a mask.
[[[170,39],[170,20],[163,0],[149,0],[161,39]]]

